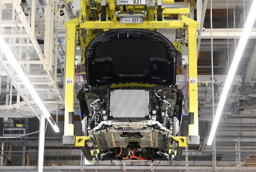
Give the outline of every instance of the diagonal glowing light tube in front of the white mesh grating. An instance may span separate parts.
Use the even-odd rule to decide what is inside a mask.
[[[15,70],[17,75],[20,77],[21,81],[23,82],[23,84],[27,88],[28,92],[33,97],[33,99],[35,100],[37,106],[39,106],[39,108],[41,109],[42,113],[44,114],[44,117],[47,118],[47,119],[50,118],[51,117],[50,113],[48,112],[48,110],[44,106],[44,103],[42,102],[42,100],[40,99],[38,94],[36,93],[36,90],[34,89],[34,87],[29,82],[26,74],[24,73],[24,71],[20,67],[18,61],[15,59],[14,55],[12,54],[12,51],[9,49],[9,47],[5,43],[4,38],[2,37],[1,34],[0,34],[0,45],[1,45],[1,50],[4,52],[7,60],[10,62],[10,64],[12,65],[12,68]],[[56,125],[56,127],[53,127],[55,132],[59,132],[59,128],[58,129],[57,128],[58,128],[57,125]]]

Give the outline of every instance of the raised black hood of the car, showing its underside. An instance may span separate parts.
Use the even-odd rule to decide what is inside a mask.
[[[117,29],[95,37],[85,51],[90,86],[119,82],[175,85],[176,51],[163,35],[143,29]]]

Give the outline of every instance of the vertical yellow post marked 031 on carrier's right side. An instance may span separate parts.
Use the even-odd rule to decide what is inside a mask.
[[[200,141],[200,137],[198,136],[196,28],[197,25],[188,24],[189,123],[187,142],[189,146],[199,145]]]

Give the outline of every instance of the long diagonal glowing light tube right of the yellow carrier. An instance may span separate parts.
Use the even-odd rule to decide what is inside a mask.
[[[217,129],[217,126],[218,126],[218,123],[219,123],[219,120],[220,120],[220,114],[222,112],[223,106],[225,105],[225,101],[226,101],[226,98],[227,98],[227,95],[228,95],[230,85],[231,85],[232,80],[234,78],[234,75],[236,73],[236,69],[237,69],[239,61],[242,57],[246,42],[248,40],[248,37],[251,34],[252,26],[253,26],[253,23],[254,23],[255,18],[256,18],[255,11],[254,11],[255,9],[256,9],[256,0],[253,0],[250,12],[248,14],[247,20],[246,20],[245,25],[244,25],[244,30],[243,30],[242,36],[241,36],[240,41],[238,43],[234,59],[233,59],[232,64],[230,66],[228,76],[227,76],[226,82],[224,84],[224,87],[223,87],[223,90],[222,90],[222,93],[221,93],[221,96],[220,96],[219,105],[218,105],[218,108],[217,108],[217,111],[216,111],[216,114],[215,114],[215,118],[214,118],[214,121],[213,121],[213,124],[212,124],[212,130],[211,130],[211,133],[209,135],[207,145],[212,144],[212,140],[213,140],[213,137],[215,135],[215,131]]]

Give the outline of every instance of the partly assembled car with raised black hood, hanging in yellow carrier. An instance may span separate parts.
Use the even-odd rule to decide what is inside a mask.
[[[78,99],[99,159],[172,159],[183,105],[172,43],[150,30],[111,30],[89,43],[85,64],[88,91]]]

